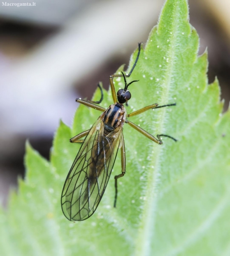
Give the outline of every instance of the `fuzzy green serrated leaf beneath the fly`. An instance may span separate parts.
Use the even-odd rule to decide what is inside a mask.
[[[73,128],[60,123],[51,163],[29,144],[26,179],[0,209],[2,255],[229,255],[230,111],[221,114],[218,81],[207,85],[207,52],[188,22],[186,0],[167,0],[128,81],[128,113],[158,103],[175,107],[130,118],[149,133],[171,135],[157,145],[124,125],[126,174],[118,155],[112,178],[92,217],[72,223],[60,207],[62,187],[79,145],[70,137],[100,115],[80,106]],[[130,66],[137,55],[131,57]],[[123,70],[123,66],[119,71]],[[108,78],[109,80],[109,78]],[[115,78],[116,90],[123,78]],[[112,104],[104,90],[102,107]],[[94,98],[100,98],[97,90]]]

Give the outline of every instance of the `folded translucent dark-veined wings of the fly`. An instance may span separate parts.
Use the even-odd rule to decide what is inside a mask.
[[[86,136],[65,180],[61,205],[69,220],[85,220],[95,212],[114,166],[122,128],[105,136],[102,117]]]

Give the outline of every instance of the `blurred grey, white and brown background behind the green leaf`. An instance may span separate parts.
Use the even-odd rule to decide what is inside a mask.
[[[77,97],[128,64],[146,42],[164,0],[27,0],[0,6],[0,203],[24,177],[25,141],[49,159],[60,119],[71,125]],[[17,2],[23,2],[18,0]],[[218,76],[224,111],[230,101],[230,1],[188,0],[190,22],[209,53],[209,83]],[[68,138],[67,138],[68,139]],[[67,170],[68,171],[68,170]]]

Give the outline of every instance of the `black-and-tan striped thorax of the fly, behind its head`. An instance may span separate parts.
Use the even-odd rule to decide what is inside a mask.
[[[115,103],[109,106],[105,111],[103,122],[105,129],[112,131],[118,126],[123,126],[126,119],[126,110],[123,105]]]

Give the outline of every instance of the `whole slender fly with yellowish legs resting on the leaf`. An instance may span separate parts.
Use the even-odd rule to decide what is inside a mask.
[[[121,72],[122,75],[111,75],[109,77],[114,104],[110,105],[108,109],[96,105],[100,104],[103,100],[103,92],[100,85],[98,85],[101,91],[101,99],[99,101],[76,99],[76,102],[102,111],[102,114],[91,129],[70,139],[70,142],[80,142],[82,145],[67,175],[61,196],[62,210],[68,220],[86,220],[95,212],[108,184],[118,149],[121,148],[121,173],[114,177],[114,207],[116,207],[118,193],[117,180],[125,175],[125,142],[122,133],[124,123],[127,123],[139,133],[142,133],[158,144],[163,143],[160,138],[161,136],[169,137],[177,141],[173,137],[164,134],[157,135],[157,138],[153,137],[153,135],[147,133],[127,119],[141,114],[148,109],[176,105],[174,103],[158,106],[158,104],[155,103],[134,111],[131,114],[126,113],[124,104],[127,104],[128,100],[131,98],[128,87],[132,83],[138,82],[135,80],[127,83],[126,77],[129,77],[135,68],[140,51],[141,43],[138,44],[137,57],[128,75]],[[125,87],[124,89],[118,90],[116,93],[113,78],[122,76]],[[82,140],[82,137],[85,137],[85,139]]]

